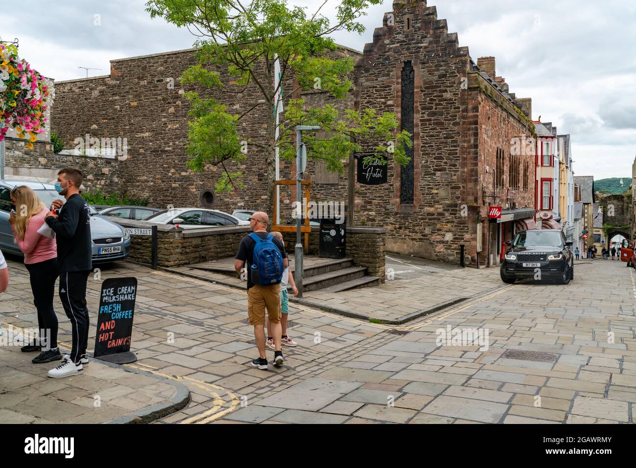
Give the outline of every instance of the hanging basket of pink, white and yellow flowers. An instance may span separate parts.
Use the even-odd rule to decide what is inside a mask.
[[[11,125],[33,148],[38,134],[45,132],[46,107],[54,97],[52,82],[18,59],[15,46],[0,43],[0,141]]]

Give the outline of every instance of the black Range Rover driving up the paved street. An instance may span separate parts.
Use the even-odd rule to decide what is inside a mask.
[[[501,264],[501,279],[514,283],[518,279],[534,279],[537,270],[541,279],[552,279],[568,284],[574,279],[574,255],[572,242],[565,240],[563,231],[530,230],[518,233],[513,242],[506,242],[511,249]]]

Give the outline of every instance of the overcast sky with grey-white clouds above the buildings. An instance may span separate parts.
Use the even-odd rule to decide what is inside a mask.
[[[312,1],[296,1],[312,5]],[[331,9],[323,10],[328,16]],[[190,48],[185,29],[151,20],[145,0],[35,0],[0,10],[0,36],[20,39],[20,56],[57,80],[109,73],[109,60]],[[329,4],[328,4],[329,5]],[[338,43],[363,50],[392,2],[368,10],[366,32]],[[438,18],[476,60],[494,55],[497,75],[533,118],[572,135],[579,176],[629,177],[636,156],[636,3],[632,0],[436,0]],[[309,11],[313,11],[309,7]],[[99,15],[96,20],[95,15]],[[99,25],[95,23],[99,22]]]

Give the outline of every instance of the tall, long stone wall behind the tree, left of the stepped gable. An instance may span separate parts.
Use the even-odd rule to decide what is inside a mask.
[[[336,55],[356,55],[342,48]],[[53,131],[64,140],[65,149],[74,147],[77,138],[125,139],[126,154],[121,157],[120,181],[113,181],[107,191],[123,192],[133,198],[149,198],[150,205],[165,207],[201,206],[200,197],[214,185],[223,169],[209,165],[204,173],[186,167],[184,145],[188,141],[189,104],[181,86],[181,74],[196,62],[195,50],[111,60],[108,76],[58,81],[53,108]],[[219,69],[221,79],[229,88],[235,77]],[[284,95],[291,97],[293,84],[285,86]],[[238,89],[238,88],[237,88]],[[308,102],[335,102],[316,92],[303,95]],[[237,97],[240,96],[240,97]],[[243,114],[261,99],[255,85],[242,94],[217,93],[228,112]],[[300,97],[300,93],[294,95]],[[352,106],[352,98],[337,103],[340,108]],[[90,109],[90,111],[87,111]],[[270,109],[259,105],[240,120],[239,133],[246,141],[264,141],[266,114]],[[265,210],[267,206],[267,166],[263,150],[247,146],[247,155],[240,165],[225,163],[229,172],[240,171],[244,188],[217,194],[214,208],[226,212],[233,209]],[[294,163],[281,162],[281,178],[295,177]],[[308,179],[315,172],[308,164]],[[338,183],[312,186],[312,197],[346,200],[346,176]],[[344,195],[342,195],[344,193]],[[291,216],[292,193],[281,203],[281,212]],[[287,203],[286,203],[287,202]]]

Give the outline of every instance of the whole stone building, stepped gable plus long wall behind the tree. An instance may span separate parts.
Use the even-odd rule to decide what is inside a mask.
[[[188,102],[179,77],[195,64],[194,52],[112,60],[109,75],[56,83],[52,125],[66,148],[87,134],[100,141],[125,139],[125,155],[110,160],[117,169],[104,168],[116,172],[106,182],[109,191],[149,197],[160,207],[200,205],[213,191],[220,168],[198,174],[186,167]],[[425,1],[394,3],[363,52],[341,47],[337,53],[356,60],[349,99],[336,102],[315,91],[302,97],[330,100],[339,109],[393,112],[401,128],[413,134],[411,162],[400,168],[389,160],[387,183],[356,181],[355,224],[386,226],[389,251],[459,263],[464,245],[468,265],[478,259],[481,266],[497,265],[502,244],[516,230],[534,226],[535,153],[526,146],[534,137],[531,100],[509,92],[505,79],[496,75],[494,57],[471,59]],[[221,76],[231,80],[223,71]],[[255,96],[248,88],[238,99],[219,97],[240,114]],[[240,134],[256,138],[265,132],[262,116],[268,111],[256,109]],[[228,170],[241,170],[245,186],[216,195],[214,207],[263,209],[267,169],[258,149]],[[280,172],[282,179],[294,177],[291,163],[282,162]],[[307,178],[314,182],[314,200],[347,201],[347,170],[331,174],[310,163]],[[287,205],[293,193],[281,198],[281,212],[291,213]],[[490,207],[501,208],[501,218],[489,221]]]

